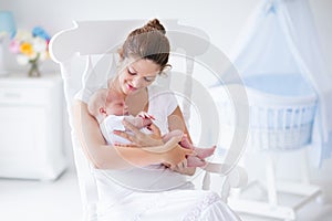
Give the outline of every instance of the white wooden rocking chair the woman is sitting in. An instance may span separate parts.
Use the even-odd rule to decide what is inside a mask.
[[[68,105],[69,119],[71,125],[71,135],[73,152],[79,178],[79,186],[83,203],[83,220],[96,220],[97,192],[94,176],[91,172],[92,165],[85,158],[80,143],[77,141],[72,123],[72,102],[74,95],[82,86],[89,86],[91,90],[100,87],[95,75],[90,73],[97,72],[102,81],[110,77],[114,71],[116,50],[123,43],[126,35],[135,28],[143,25],[146,21],[124,20],[124,21],[82,21],[74,22],[74,27],[55,34],[50,42],[50,53],[54,62],[60,64],[61,74],[64,82],[65,98]],[[170,45],[175,49],[181,49],[190,59],[186,59],[186,78],[181,88],[190,97],[191,74],[194,72],[194,59],[204,54],[208,50],[206,34],[197,29],[179,25],[175,20],[163,21],[165,24]],[[193,46],[195,45],[195,46]],[[95,63],[98,65],[94,65]],[[81,69],[85,66],[85,70]],[[167,84],[172,85],[170,76]],[[173,81],[174,82],[174,81]],[[190,106],[184,103],[181,106],[185,118],[189,119]],[[190,129],[189,129],[190,130]],[[203,131],[201,140],[209,138],[209,133]],[[206,144],[203,144],[206,145]],[[208,164],[204,168],[203,189],[210,187],[210,172],[217,173],[224,178],[219,186],[221,198],[227,201],[231,187],[239,187],[247,182],[247,175],[237,166],[241,149],[232,151],[232,157],[220,164]],[[203,173],[201,173],[203,175]]]

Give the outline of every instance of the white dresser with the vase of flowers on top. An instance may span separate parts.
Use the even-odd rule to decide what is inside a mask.
[[[60,74],[0,77],[0,178],[54,180],[65,169]]]

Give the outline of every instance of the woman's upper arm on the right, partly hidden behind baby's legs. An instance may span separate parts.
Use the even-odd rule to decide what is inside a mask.
[[[179,130],[184,131],[184,134],[187,135],[189,141],[193,143],[189,131],[188,131],[188,128],[185,124],[184,115],[183,115],[179,106],[177,106],[175,108],[175,110],[168,116],[168,129],[169,129],[169,131],[175,130],[175,129],[179,129]],[[196,168],[195,167],[186,167],[186,168],[176,167],[175,170],[179,173],[191,176],[195,173]]]

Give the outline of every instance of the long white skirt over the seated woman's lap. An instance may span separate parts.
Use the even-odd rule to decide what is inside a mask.
[[[117,203],[98,207],[98,221],[238,221],[212,191],[133,192]]]

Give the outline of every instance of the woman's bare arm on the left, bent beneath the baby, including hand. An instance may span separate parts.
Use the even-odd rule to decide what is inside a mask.
[[[89,114],[85,103],[74,102],[73,116],[75,133],[83,151],[98,169],[144,167],[165,161],[175,166],[184,160],[186,155],[190,154],[177,147],[177,140],[167,143],[168,150],[163,152],[146,151],[142,148],[112,147],[106,145],[100,126],[94,117]]]

